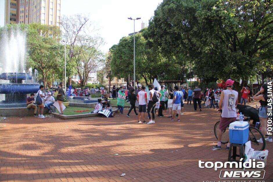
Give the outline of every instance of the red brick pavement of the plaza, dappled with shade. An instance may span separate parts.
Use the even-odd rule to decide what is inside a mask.
[[[218,117],[193,105],[185,105],[181,122],[163,117],[152,125],[125,114],[10,117],[0,122],[0,181],[219,181],[220,171],[198,167],[198,160],[227,161],[224,145],[212,150]],[[272,143],[266,148],[273,151]],[[273,181],[272,162],[270,153],[264,181]]]

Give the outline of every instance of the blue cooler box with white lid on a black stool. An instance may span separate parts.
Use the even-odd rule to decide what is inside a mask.
[[[235,121],[229,124],[229,140],[230,143],[244,144],[248,140],[249,123],[244,121]]]

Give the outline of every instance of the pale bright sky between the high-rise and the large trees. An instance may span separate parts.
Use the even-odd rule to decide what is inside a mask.
[[[1,1],[1,0],[0,0]],[[135,31],[141,23],[149,22],[157,6],[163,0],[62,0],[61,16],[78,13],[89,14],[90,20],[100,27],[98,34],[105,40],[101,51],[107,52],[122,37],[134,32],[134,21],[128,17],[141,19],[135,21]]]

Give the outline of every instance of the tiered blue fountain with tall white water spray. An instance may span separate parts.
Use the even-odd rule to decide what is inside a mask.
[[[26,109],[26,95],[37,93],[39,84],[36,84],[36,71],[34,82],[31,76],[32,69],[29,69],[29,73],[25,72],[26,33],[19,28],[10,31],[3,28],[0,41],[0,114],[2,114],[5,108]],[[11,110],[10,112],[12,113]]]

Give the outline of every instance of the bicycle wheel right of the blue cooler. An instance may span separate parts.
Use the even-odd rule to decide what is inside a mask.
[[[260,139],[262,139],[263,143],[258,142]],[[251,141],[251,147],[254,150],[262,151],[265,149],[265,137],[256,127],[249,127],[248,141]]]

